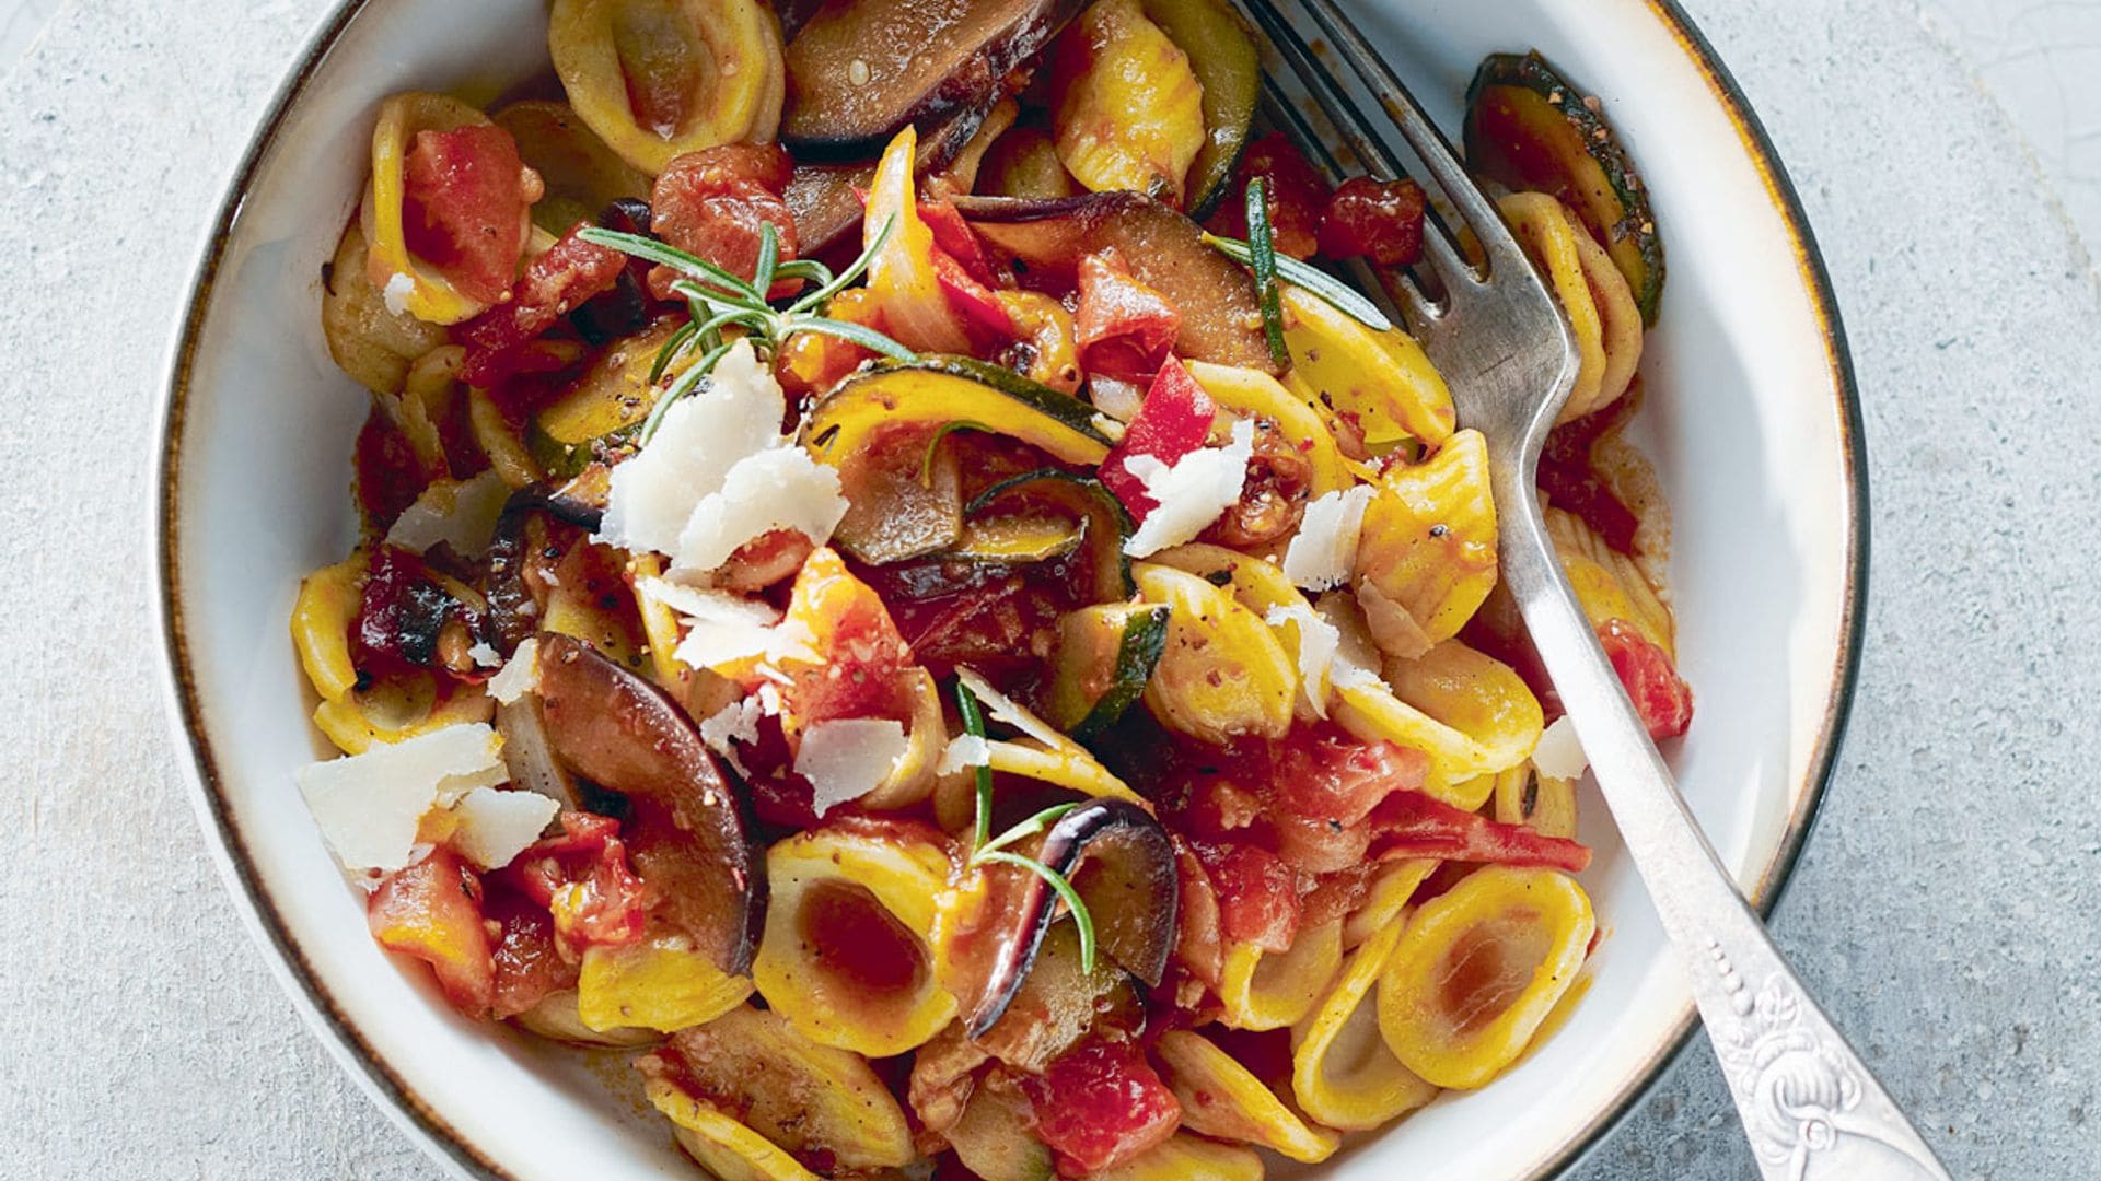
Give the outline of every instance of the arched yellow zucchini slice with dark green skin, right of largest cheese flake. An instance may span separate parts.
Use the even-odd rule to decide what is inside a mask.
[[[1069,464],[1097,467],[1109,456],[1088,403],[1013,370],[948,355],[849,376],[811,412],[803,446],[817,462],[843,467],[878,429],[950,422],[1011,435]]]

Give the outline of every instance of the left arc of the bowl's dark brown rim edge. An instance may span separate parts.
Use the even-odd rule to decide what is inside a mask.
[[[294,1009],[298,1009],[300,1017],[307,1019],[307,1025],[319,1036],[332,1057],[372,1099],[378,1101],[378,1107],[393,1120],[393,1124],[408,1133],[408,1137],[422,1147],[424,1154],[466,1177],[508,1179],[508,1173],[504,1173],[477,1147],[466,1143],[466,1139],[452,1124],[448,1124],[435,1107],[410,1089],[408,1082],[395,1074],[391,1065],[387,1065],[363,1034],[359,1034],[357,1028],[345,1017],[336,998],[321,986],[313,965],[292,939],[284,916],[277,914],[277,906],[263,889],[248,855],[248,845],[242,838],[240,828],[233,824],[225,792],[219,788],[219,765],[212,759],[210,742],[204,735],[204,710],[197,702],[195,677],[191,675],[189,647],[185,639],[187,630],[181,607],[181,496],[176,490],[183,473],[181,433],[183,418],[189,410],[189,378],[191,366],[195,364],[197,336],[204,326],[204,315],[212,303],[219,265],[225,256],[233,223],[248,195],[248,187],[254,183],[254,172],[275,145],[277,132],[284,126],[292,103],[298,99],[300,90],[305,90],[321,61],[328,59],[328,53],[342,36],[342,29],[349,27],[349,23],[363,11],[366,2],[368,0],[342,0],[332,13],[321,17],[313,32],[307,34],[307,40],[298,50],[296,65],[271,95],[263,120],[256,124],[256,130],[248,141],[248,149],[242,153],[231,179],[227,181],[219,214],[212,219],[212,229],[206,235],[197,263],[191,271],[189,298],[183,307],[181,332],[176,334],[168,355],[168,391],[162,401],[160,433],[153,456],[153,485],[160,490],[160,496],[153,513],[153,536],[149,544],[153,546],[153,565],[160,572],[160,595],[151,597],[151,605],[160,616],[158,622],[166,641],[166,700],[170,704],[170,721],[176,723],[174,729],[179,744],[187,744],[191,754],[191,773],[185,775],[195,788],[191,792],[191,803],[197,809],[197,820],[216,836],[216,841],[210,841],[212,855],[214,862],[219,862],[219,870],[225,876],[229,891],[233,893],[235,910],[242,912],[250,933],[265,941],[273,952],[273,956],[269,956],[269,967],[273,969],[279,986],[284,986],[284,992],[292,998]]]

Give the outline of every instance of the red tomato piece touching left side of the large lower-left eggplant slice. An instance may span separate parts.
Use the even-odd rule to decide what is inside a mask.
[[[561,836],[529,845],[502,870],[502,878],[550,912],[555,939],[571,956],[590,946],[641,939],[656,902],[628,868],[620,822],[588,811],[561,813]]]

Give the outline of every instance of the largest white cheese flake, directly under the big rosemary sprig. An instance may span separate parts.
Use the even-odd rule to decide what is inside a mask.
[[[737,343],[664,412],[649,446],[613,467],[597,540],[670,555],[681,574],[716,569],[771,530],[824,544],[847,498],[838,473],[782,435],[784,412],[779,382]]]

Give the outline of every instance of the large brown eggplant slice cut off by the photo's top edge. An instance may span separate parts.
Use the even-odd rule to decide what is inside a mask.
[[[798,160],[882,151],[906,124],[958,111],[977,120],[1002,82],[1042,53],[1082,0],[826,0],[784,50],[788,105],[779,139]]]

